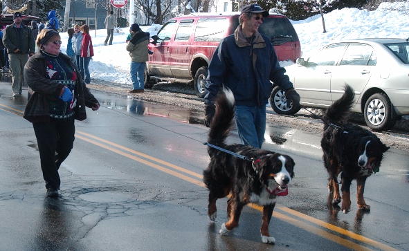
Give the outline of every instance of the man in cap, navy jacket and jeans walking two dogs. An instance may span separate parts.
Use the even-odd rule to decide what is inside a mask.
[[[215,114],[215,97],[221,86],[235,97],[235,120],[244,145],[261,148],[266,131],[266,104],[277,84],[294,106],[300,95],[293,89],[268,37],[258,32],[269,12],[257,4],[243,7],[233,35],[221,40],[210,61],[205,95],[205,123]]]

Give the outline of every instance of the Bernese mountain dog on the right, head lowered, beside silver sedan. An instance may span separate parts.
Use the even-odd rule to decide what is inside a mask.
[[[359,210],[370,210],[363,191],[365,180],[379,171],[383,153],[389,149],[372,132],[347,122],[349,109],[354,105],[354,89],[345,86],[345,93],[328,107],[322,117],[324,133],[321,140],[323,160],[329,174],[328,188],[333,193],[332,204],[341,201],[337,177],[340,174],[344,213],[351,208],[349,187],[356,180],[356,198]]]

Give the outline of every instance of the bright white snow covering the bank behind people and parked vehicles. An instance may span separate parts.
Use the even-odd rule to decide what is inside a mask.
[[[409,38],[409,1],[381,3],[374,11],[343,8],[324,15],[326,33],[322,33],[320,15],[301,21],[291,21],[301,43],[302,57],[307,58],[315,50],[340,39],[368,37]],[[161,26],[140,26],[142,30],[155,35]],[[107,30],[91,30],[94,57],[89,64],[91,79],[114,82],[131,86],[129,68],[131,57],[127,53],[126,38],[129,28],[114,32],[113,44],[104,46]],[[62,37],[62,52],[66,51],[68,35]],[[96,36],[95,36],[96,35]],[[293,62],[280,62],[285,67]]]

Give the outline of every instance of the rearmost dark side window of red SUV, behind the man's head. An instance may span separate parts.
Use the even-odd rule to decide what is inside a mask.
[[[239,26],[239,17],[233,17],[233,32]],[[296,30],[289,19],[285,17],[264,17],[259,32],[270,38],[273,46],[279,46],[289,41],[298,41]]]

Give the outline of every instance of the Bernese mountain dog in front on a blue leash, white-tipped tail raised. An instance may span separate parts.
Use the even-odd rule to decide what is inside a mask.
[[[239,224],[244,205],[262,205],[262,242],[275,243],[274,237],[269,234],[269,223],[277,197],[288,194],[287,185],[294,176],[294,160],[284,154],[247,145],[226,145],[225,140],[234,117],[234,102],[233,93],[228,89],[217,96],[208,143],[246,156],[250,160],[208,147],[210,164],[203,171],[203,182],[209,189],[208,216],[215,221],[217,199],[229,196],[228,221],[219,230],[220,234],[227,234]]]

